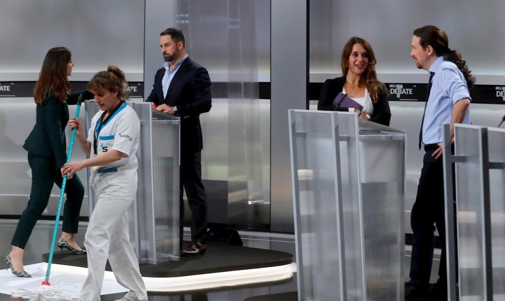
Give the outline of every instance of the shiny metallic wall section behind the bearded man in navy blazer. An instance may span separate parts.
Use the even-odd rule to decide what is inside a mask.
[[[269,67],[260,67],[258,62],[265,64],[269,43],[265,39],[257,42],[257,37],[269,31],[269,20],[264,20],[269,18],[268,8],[269,0],[146,2],[145,97],[152,90],[155,71],[163,64],[159,34],[171,26],[184,32],[187,53],[207,68],[211,81],[227,83],[213,88],[213,93],[226,98],[214,98],[212,110],[200,115],[201,163],[204,180],[227,182],[220,185],[228,189],[224,220],[240,228],[265,228],[270,223],[269,210],[265,210],[270,187],[264,180],[265,170],[269,170],[269,131],[262,131],[269,124],[262,123],[268,119],[269,108],[265,110],[258,97],[258,72]],[[210,206],[212,201],[210,198]],[[222,219],[218,221],[222,223]]]

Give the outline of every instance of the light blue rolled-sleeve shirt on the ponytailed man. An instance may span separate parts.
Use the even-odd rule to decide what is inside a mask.
[[[471,100],[465,76],[456,64],[438,57],[428,71],[435,75],[422,126],[424,145],[442,142],[442,125],[450,124],[454,103],[465,98]],[[470,124],[470,110],[463,123]]]

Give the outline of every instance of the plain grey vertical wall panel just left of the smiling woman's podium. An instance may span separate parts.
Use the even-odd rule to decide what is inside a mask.
[[[307,106],[305,0],[271,1],[271,231],[293,232],[288,110]]]

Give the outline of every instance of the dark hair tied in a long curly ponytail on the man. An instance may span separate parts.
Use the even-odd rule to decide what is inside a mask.
[[[430,45],[438,56],[443,56],[444,60],[456,64],[465,76],[468,89],[473,87],[475,76],[471,74],[472,71],[468,69],[468,65],[461,57],[461,53],[458,50],[449,48],[449,38],[444,30],[434,25],[426,25],[416,29],[413,34],[419,37],[419,44],[423,49]]]

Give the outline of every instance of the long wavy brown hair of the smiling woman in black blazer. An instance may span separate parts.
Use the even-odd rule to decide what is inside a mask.
[[[378,100],[378,94],[387,93],[387,89],[386,85],[377,79],[377,73],[375,72],[375,64],[377,64],[377,60],[375,59],[372,46],[370,46],[367,41],[362,38],[352,37],[349,41],[347,41],[347,43],[345,43],[344,48],[342,49],[342,59],[340,63],[342,67],[342,74],[347,75],[347,72],[349,71],[349,56],[352,52],[352,46],[355,44],[363,46],[365,51],[368,53],[368,67],[361,75],[358,85],[365,86],[366,89],[368,89],[372,102],[376,103]]]

